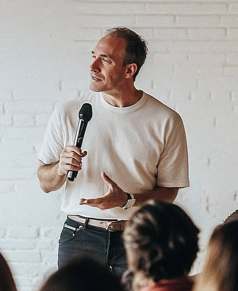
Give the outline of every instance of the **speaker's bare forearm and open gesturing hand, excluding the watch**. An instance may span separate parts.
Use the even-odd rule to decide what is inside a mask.
[[[98,207],[101,210],[110,209],[113,207],[121,207],[127,202],[127,194],[113,180],[111,180],[104,172],[102,172],[103,180],[108,184],[107,193],[99,198],[84,199],[81,198],[79,205],[86,204],[93,207]],[[143,194],[134,194],[136,203],[134,206],[143,204],[149,199],[163,200],[168,203],[173,203],[177,193],[177,187],[159,187]]]

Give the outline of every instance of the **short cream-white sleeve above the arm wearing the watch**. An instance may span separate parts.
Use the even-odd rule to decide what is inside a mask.
[[[177,124],[166,133],[157,173],[159,187],[189,187],[187,140],[180,116]]]

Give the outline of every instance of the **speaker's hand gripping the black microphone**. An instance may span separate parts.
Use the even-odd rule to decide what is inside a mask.
[[[81,151],[74,145],[66,145],[60,154],[57,173],[59,176],[66,175],[68,171],[80,171],[82,168],[82,158],[87,152]]]

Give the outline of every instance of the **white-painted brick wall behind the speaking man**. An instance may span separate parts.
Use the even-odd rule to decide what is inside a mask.
[[[176,203],[202,230],[237,207],[238,3],[166,0],[0,1],[0,250],[20,291],[56,269],[62,190],[45,194],[36,172],[55,104],[88,89],[91,50],[106,29],[148,40],[137,88],[182,116],[191,187]]]

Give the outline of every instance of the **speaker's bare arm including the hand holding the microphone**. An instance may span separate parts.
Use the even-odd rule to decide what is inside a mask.
[[[87,152],[81,152],[80,148],[67,145],[61,153],[58,162],[50,165],[41,163],[37,173],[40,181],[40,188],[45,193],[60,189],[67,178],[68,171],[81,170],[81,159],[86,155]]]

